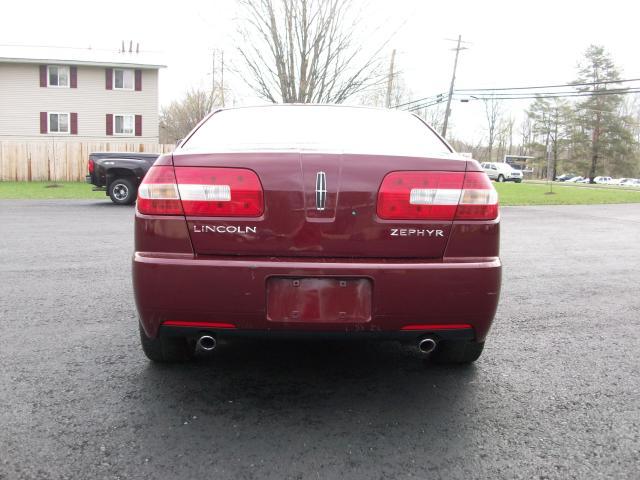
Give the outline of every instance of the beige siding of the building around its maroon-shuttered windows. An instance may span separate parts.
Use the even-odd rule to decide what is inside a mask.
[[[103,67],[77,68],[77,88],[44,88],[39,65],[0,63],[0,140],[158,142],[157,69],[142,69],[135,91],[107,90]],[[77,113],[78,134],[41,134],[40,112]],[[108,113],[142,115],[142,135],[107,136]]]

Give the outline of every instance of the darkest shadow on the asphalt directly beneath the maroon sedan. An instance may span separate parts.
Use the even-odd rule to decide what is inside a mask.
[[[435,365],[396,342],[234,339],[192,363],[150,363],[140,380],[155,399],[196,410],[235,402],[263,413],[388,405],[406,414],[467,402],[476,375],[473,365]]]

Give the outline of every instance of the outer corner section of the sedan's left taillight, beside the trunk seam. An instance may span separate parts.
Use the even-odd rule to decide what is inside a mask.
[[[173,167],[151,167],[138,188],[137,203],[145,215],[182,215]]]

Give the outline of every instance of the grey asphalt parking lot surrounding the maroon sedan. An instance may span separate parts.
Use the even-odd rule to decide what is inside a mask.
[[[0,201],[0,479],[637,478],[640,206],[502,214],[474,366],[259,341],[155,366],[133,209]]]

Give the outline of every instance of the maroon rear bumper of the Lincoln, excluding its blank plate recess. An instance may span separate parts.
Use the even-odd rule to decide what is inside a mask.
[[[272,278],[366,279],[368,317],[359,321],[274,321]],[[234,258],[138,252],[133,286],[149,337],[272,335],[483,341],[500,294],[497,257],[449,260]],[[278,299],[275,300],[276,302]],[[284,297],[283,297],[284,301]]]

